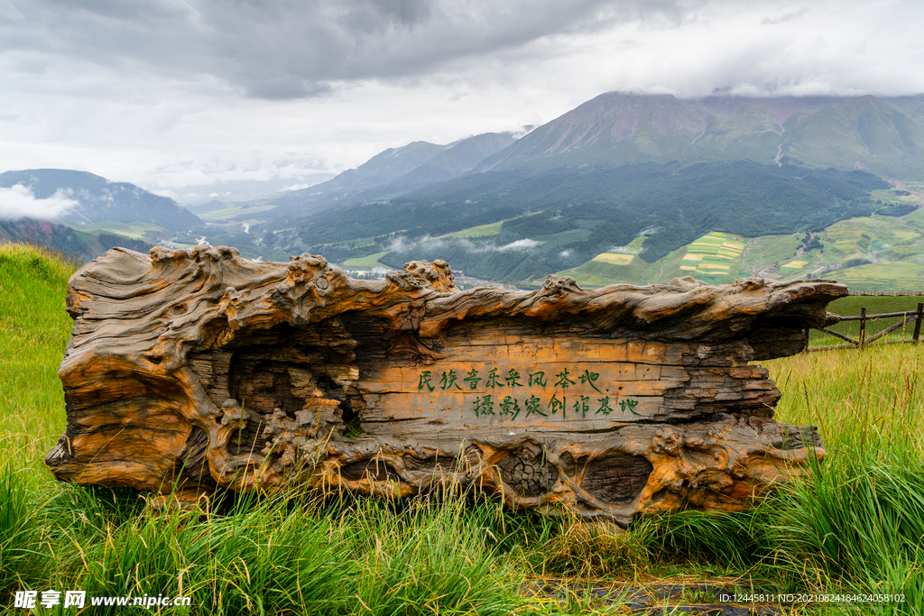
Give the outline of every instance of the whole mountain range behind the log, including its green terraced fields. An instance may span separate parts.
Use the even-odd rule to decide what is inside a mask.
[[[6,175],[0,180],[11,181]],[[443,258],[479,278],[526,286],[550,272],[585,284],[665,282],[682,272],[725,282],[873,266],[914,281],[924,279],[924,248],[916,248],[924,242],[922,180],[924,95],[716,92],[680,100],[608,92],[525,135],[415,141],[311,187],[192,206],[207,227],[191,214],[170,226],[149,211],[142,222],[172,232],[180,246],[201,234],[250,257],[310,251],[347,269]],[[118,200],[112,188],[106,194]],[[81,202],[79,214],[88,223],[141,215],[127,201],[128,213],[116,218],[117,208],[101,210],[106,202]],[[846,239],[833,231],[845,228]],[[711,234],[745,247],[737,264],[684,262],[705,259],[689,247],[720,237]]]

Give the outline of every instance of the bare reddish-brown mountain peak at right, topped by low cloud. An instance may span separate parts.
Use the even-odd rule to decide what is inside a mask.
[[[536,128],[475,171],[581,163],[731,162],[924,174],[924,97],[685,101],[607,92]]]

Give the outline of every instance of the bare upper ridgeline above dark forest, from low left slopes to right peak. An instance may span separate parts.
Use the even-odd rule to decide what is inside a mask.
[[[719,92],[684,100],[606,92],[520,139],[485,133],[448,145],[415,141],[327,182],[251,202],[266,206],[261,220],[291,222],[422,187],[438,193],[441,183],[490,171],[541,175],[585,164],[744,160],[917,180],[924,177],[924,95],[774,98]],[[236,218],[252,221],[249,212]]]

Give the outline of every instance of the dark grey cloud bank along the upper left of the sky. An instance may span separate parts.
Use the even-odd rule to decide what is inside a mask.
[[[681,0],[6,0],[0,51],[18,69],[72,57],[225,79],[251,96],[306,98],[332,82],[417,77],[555,35],[682,20]]]

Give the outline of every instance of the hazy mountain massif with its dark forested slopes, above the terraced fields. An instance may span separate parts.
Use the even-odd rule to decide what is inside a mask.
[[[696,234],[804,236],[852,218],[914,211],[918,205],[886,194],[890,184],[881,178],[924,179],[922,118],[924,96],[720,93],[689,101],[608,92],[505,147],[495,139],[494,151],[470,148],[466,164],[447,173],[437,171],[444,157],[485,136],[440,151],[420,143],[385,151],[327,183],[359,188],[336,200],[263,201],[256,215],[265,223],[249,233],[274,254],[309,250],[347,264],[374,256],[396,268],[447,259],[507,282],[575,268],[635,242],[644,268]],[[396,157],[417,166],[370,173]],[[237,218],[253,223],[254,215]]]

